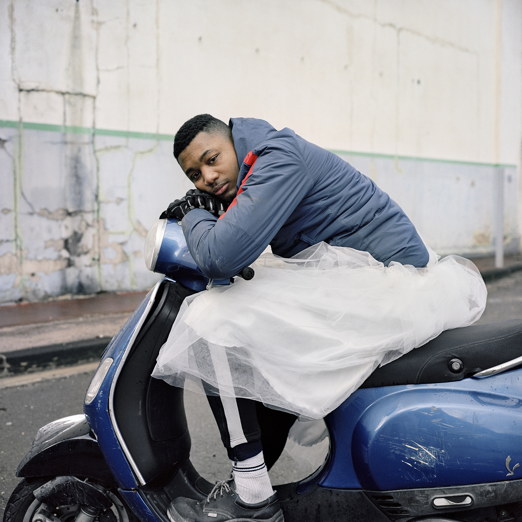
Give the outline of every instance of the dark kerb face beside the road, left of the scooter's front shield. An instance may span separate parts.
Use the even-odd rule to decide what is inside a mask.
[[[56,370],[57,366],[98,363],[111,339],[97,337],[0,353],[0,378]]]

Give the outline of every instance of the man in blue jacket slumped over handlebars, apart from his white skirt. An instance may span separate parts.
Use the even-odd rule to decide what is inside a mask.
[[[276,131],[254,118],[231,118],[227,126],[200,114],[176,133],[174,156],[197,190],[174,201],[162,217],[182,219],[189,251],[210,279],[235,276],[268,245],[274,254],[291,257],[322,241],[369,252],[386,266],[428,263],[428,251],[395,201],[350,164],[288,128]],[[281,424],[284,441],[295,417],[267,412],[247,399],[209,396],[209,402],[234,460],[234,481],[218,484],[221,490],[209,502],[176,499],[169,517],[280,522],[263,432]],[[276,446],[269,449],[269,466],[281,453],[280,442]]]

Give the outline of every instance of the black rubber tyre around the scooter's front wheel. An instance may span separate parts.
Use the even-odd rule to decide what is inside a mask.
[[[33,491],[41,485],[49,482],[53,477],[31,477],[23,479],[11,493],[7,501],[3,522],[31,522],[34,512],[40,506],[40,503],[35,499]],[[103,522],[139,522],[138,518],[126,505],[125,501],[117,492],[111,492],[113,502],[117,503],[116,511],[120,516],[116,517],[108,511],[110,516],[101,516],[100,520]],[[113,504],[114,506],[115,504]],[[122,516],[123,515],[123,516]],[[60,517],[58,517],[60,519]],[[98,518],[97,518],[98,520]]]

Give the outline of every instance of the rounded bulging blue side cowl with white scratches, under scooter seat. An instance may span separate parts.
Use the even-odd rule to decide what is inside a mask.
[[[519,398],[410,388],[364,412],[353,433],[353,465],[363,488],[381,491],[520,478],[521,427]]]

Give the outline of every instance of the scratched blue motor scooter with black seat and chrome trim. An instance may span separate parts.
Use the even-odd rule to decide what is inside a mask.
[[[205,278],[176,220],[153,226],[145,257],[165,277],[103,353],[84,414],[39,430],[4,522],[168,522],[175,497],[212,489],[189,458],[183,390],[150,374],[186,296],[231,280]],[[522,321],[507,321],[378,368],[326,417],[323,465],[275,486],[285,520],[522,521],[521,364]]]

